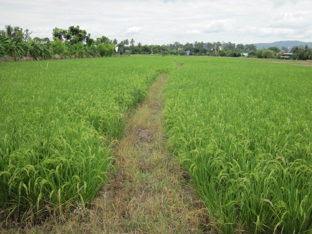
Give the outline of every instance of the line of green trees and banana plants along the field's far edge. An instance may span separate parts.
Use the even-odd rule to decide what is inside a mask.
[[[280,58],[278,54],[280,49],[276,46],[257,50],[253,44],[236,45],[231,41],[194,41],[185,44],[175,41],[167,45],[142,45],[141,42],[135,44],[133,38],[119,42],[116,38],[110,40],[105,36],[93,39],[90,33],[79,26],[70,26],[68,29],[53,28],[53,41],[48,37],[31,38],[31,34],[28,29],[23,31],[20,27],[6,25],[5,30],[0,31],[0,57],[11,57],[17,61],[25,57],[39,60],[130,54],[185,55],[186,51],[190,51],[190,55],[196,56],[240,57],[242,54],[248,54],[249,57]],[[115,51],[117,46],[118,51]],[[285,47],[281,49],[288,52]],[[295,60],[312,59],[309,46],[294,46],[290,52],[293,53],[292,59]]]

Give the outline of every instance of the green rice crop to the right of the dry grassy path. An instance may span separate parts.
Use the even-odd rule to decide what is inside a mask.
[[[168,145],[222,233],[312,232],[312,68],[177,58]]]

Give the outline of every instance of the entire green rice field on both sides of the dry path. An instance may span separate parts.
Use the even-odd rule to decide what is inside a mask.
[[[89,208],[160,73],[166,144],[208,229],[312,233],[312,67],[193,56],[0,63],[0,220]]]

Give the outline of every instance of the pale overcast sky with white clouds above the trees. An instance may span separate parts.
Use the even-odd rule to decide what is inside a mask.
[[[0,0],[0,30],[10,24],[50,40],[54,27],[79,25],[92,38],[136,44],[310,42],[311,22],[311,0]]]

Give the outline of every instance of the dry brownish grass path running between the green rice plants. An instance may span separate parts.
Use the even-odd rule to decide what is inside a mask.
[[[97,231],[198,233],[204,228],[202,204],[181,182],[182,171],[165,150],[160,115],[167,80],[167,74],[158,77],[127,124],[115,152],[116,178],[95,202]]]

